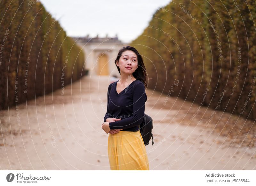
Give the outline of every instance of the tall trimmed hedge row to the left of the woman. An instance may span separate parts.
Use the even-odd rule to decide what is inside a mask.
[[[84,53],[38,1],[0,2],[0,109],[84,75]]]

